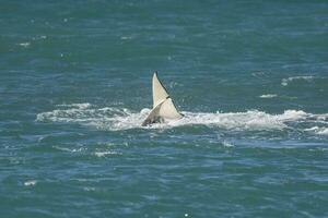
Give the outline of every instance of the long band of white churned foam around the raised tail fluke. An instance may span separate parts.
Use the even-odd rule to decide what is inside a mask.
[[[206,125],[233,131],[272,131],[296,129],[309,132],[318,123],[320,129],[313,129],[315,134],[326,134],[328,129],[328,113],[313,114],[302,110],[285,110],[280,114],[270,114],[259,110],[245,112],[189,112],[183,111],[185,117],[180,120],[155,123],[141,126],[150,109],[140,112],[127,108],[105,107],[97,108],[91,104],[58,105],[58,108],[38,113],[38,122],[79,123],[101,130],[121,131],[129,129],[169,129],[177,126]],[[302,123],[298,125],[298,123]],[[303,128],[306,126],[307,129]]]

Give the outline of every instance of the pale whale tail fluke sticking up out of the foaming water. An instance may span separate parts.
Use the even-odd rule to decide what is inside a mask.
[[[142,125],[162,122],[165,119],[176,120],[183,117],[184,116],[177,111],[172,98],[160,82],[157,73],[155,72],[153,75],[153,109],[143,121]]]

